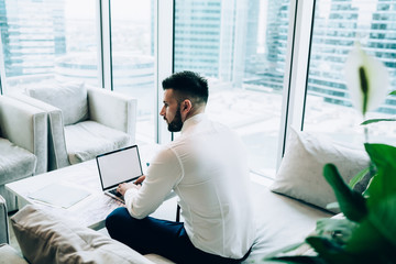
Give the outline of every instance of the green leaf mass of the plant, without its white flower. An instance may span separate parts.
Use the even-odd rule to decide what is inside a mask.
[[[306,239],[315,256],[271,256],[283,263],[396,263],[396,147],[365,144],[375,174],[364,195],[346,185],[337,167],[323,175],[345,218],[322,219]]]

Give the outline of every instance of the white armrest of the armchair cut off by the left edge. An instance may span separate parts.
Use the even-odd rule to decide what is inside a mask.
[[[47,170],[46,120],[45,111],[7,96],[0,97],[1,134],[37,157],[35,174]]]

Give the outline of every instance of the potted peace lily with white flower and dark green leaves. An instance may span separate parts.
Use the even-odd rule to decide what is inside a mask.
[[[364,118],[366,111],[374,109],[388,94],[386,69],[360,46],[351,52],[346,68],[352,70],[348,81],[351,97]],[[396,91],[391,95],[395,96]],[[373,99],[374,97],[377,98]],[[396,119],[372,119],[364,121],[362,125],[383,121]],[[369,133],[364,128],[367,141]],[[275,252],[266,261],[318,264],[396,263],[396,147],[370,143],[365,143],[364,147],[371,166],[358,174],[349,185],[333,164],[327,164],[323,168],[323,176],[334,190],[343,217],[319,220],[316,234],[300,244]],[[372,178],[366,190],[363,194],[354,191],[353,186],[367,173]],[[285,252],[304,243],[309,244],[316,254],[285,255]]]

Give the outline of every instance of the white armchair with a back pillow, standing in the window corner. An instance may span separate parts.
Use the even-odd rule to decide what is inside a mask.
[[[135,142],[138,100],[84,84],[28,89],[12,97],[48,114],[48,170]]]

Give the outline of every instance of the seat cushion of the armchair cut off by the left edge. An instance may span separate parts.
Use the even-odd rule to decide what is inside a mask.
[[[0,185],[33,175],[36,162],[33,153],[0,138]]]

